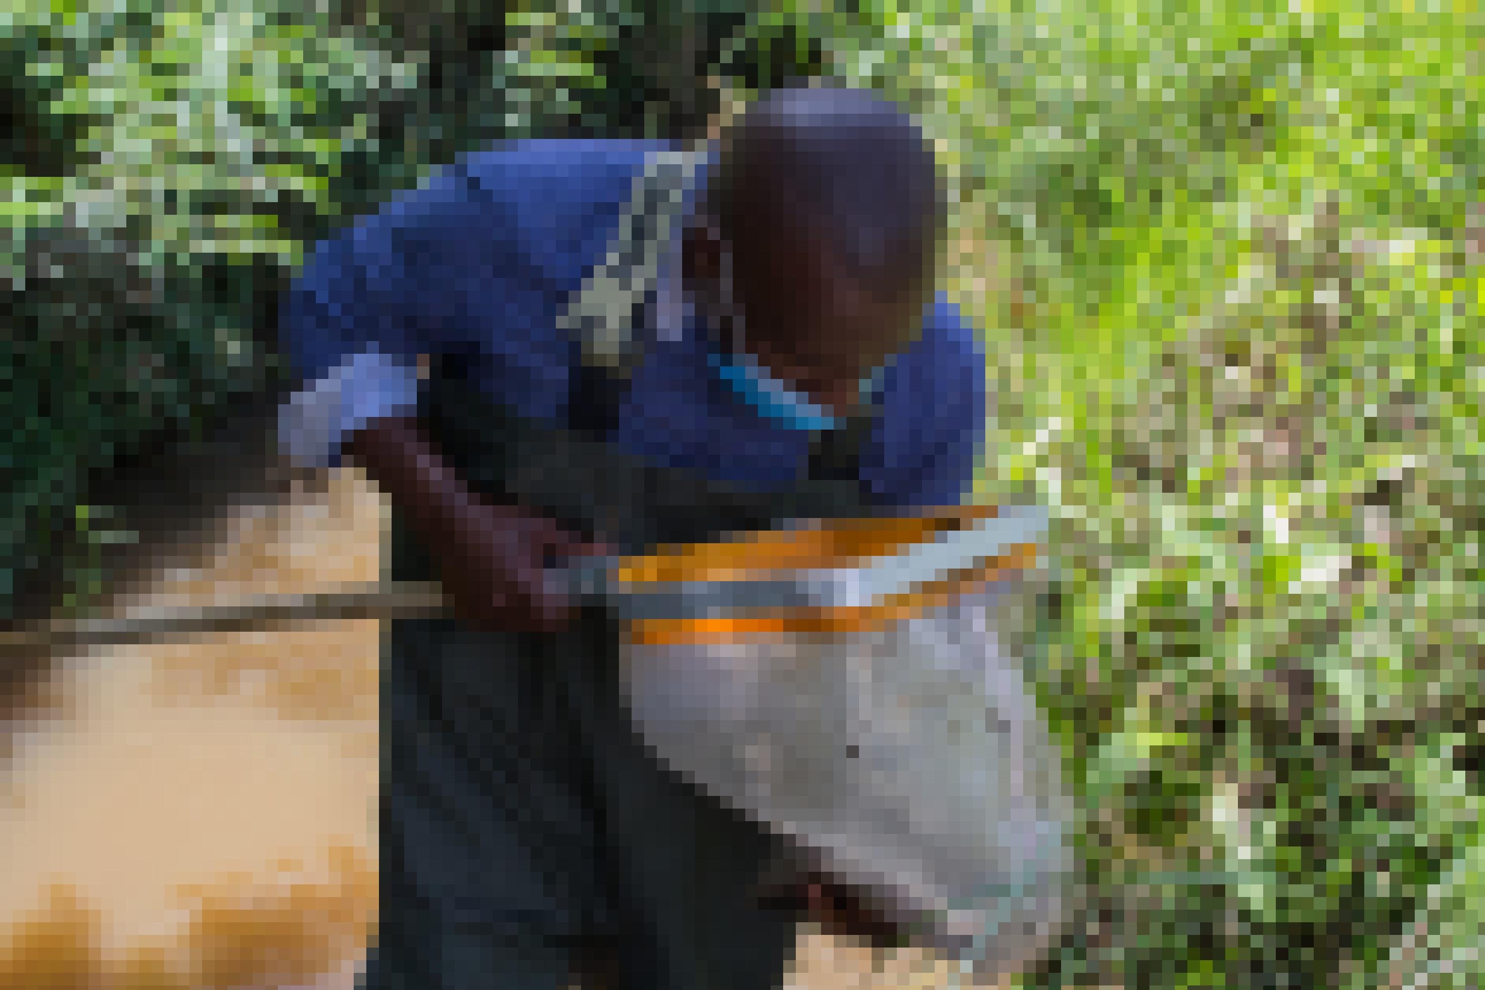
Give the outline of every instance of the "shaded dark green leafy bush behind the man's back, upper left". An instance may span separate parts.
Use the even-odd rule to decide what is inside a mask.
[[[9,4],[0,612],[56,574],[61,604],[85,607],[107,580],[101,545],[131,539],[108,505],[117,465],[209,436],[282,383],[276,298],[306,246],[493,138],[688,134],[716,101],[671,96],[711,92],[693,76],[745,19],[466,0]],[[692,65],[649,58],[677,33]],[[655,110],[682,102],[689,117]]]

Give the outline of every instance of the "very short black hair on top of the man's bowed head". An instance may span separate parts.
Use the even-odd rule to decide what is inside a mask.
[[[708,206],[722,236],[805,229],[884,292],[928,281],[947,203],[933,144],[867,89],[775,89],[723,140]]]

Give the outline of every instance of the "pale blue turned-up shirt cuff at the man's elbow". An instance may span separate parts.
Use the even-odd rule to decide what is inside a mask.
[[[346,436],[417,410],[417,365],[376,347],[347,358],[279,408],[279,448],[303,468],[339,462]]]

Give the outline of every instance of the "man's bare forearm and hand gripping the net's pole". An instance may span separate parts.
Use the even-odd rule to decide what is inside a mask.
[[[546,568],[604,552],[554,521],[484,502],[448,468],[413,419],[382,419],[345,447],[405,514],[440,561],[460,619],[489,631],[552,632],[573,603]]]

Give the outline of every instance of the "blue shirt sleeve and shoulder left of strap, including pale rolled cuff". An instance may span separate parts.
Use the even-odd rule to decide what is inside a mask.
[[[557,313],[600,257],[644,150],[502,144],[321,242],[281,301],[282,353],[304,381],[282,410],[285,453],[336,463],[347,430],[405,408],[420,355],[457,355],[493,399],[560,422],[578,347]]]

